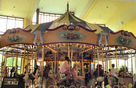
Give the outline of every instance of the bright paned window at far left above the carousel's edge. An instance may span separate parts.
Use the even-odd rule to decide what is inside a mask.
[[[0,16],[0,34],[3,34],[7,29],[23,28],[24,19],[9,16]]]

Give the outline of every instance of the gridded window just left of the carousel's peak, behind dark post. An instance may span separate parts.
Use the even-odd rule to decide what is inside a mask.
[[[61,14],[53,14],[53,13],[39,13],[39,24],[51,22],[57,18],[59,18]],[[36,13],[33,16],[32,24],[36,24]]]

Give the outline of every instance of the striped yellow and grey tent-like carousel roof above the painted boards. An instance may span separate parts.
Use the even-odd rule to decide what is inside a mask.
[[[80,26],[80,27],[83,27],[84,29],[95,31],[95,33],[100,33],[103,31],[104,32],[112,32],[112,30],[109,29],[108,27],[104,27],[104,26],[101,26],[98,24],[88,23],[88,22],[76,17],[72,12],[69,12],[68,10],[64,15],[62,15],[61,17],[59,17],[58,19],[56,19],[52,22],[36,24],[36,25],[29,25],[25,29],[32,30],[32,32],[38,31],[38,30],[40,30],[41,32],[45,32],[47,29],[53,30],[53,29],[56,29],[56,28],[58,28],[60,26],[64,26],[64,25]]]

